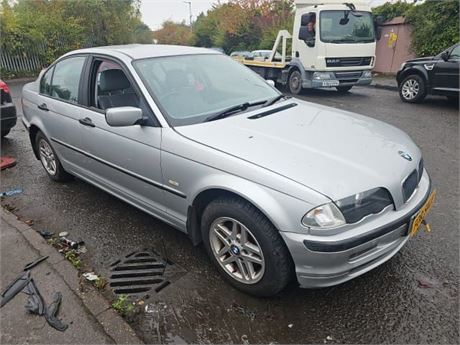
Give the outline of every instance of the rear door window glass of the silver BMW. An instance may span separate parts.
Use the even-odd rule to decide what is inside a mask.
[[[51,85],[51,96],[72,103],[78,102],[78,88],[86,57],[67,58],[56,64]]]

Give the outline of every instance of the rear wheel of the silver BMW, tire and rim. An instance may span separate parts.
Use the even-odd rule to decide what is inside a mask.
[[[40,162],[50,179],[57,182],[66,182],[73,178],[72,175],[64,170],[56,151],[54,151],[50,142],[42,132],[37,133],[35,145],[40,157]]]

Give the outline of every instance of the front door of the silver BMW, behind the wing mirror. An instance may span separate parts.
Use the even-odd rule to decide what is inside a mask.
[[[93,58],[86,89],[88,106],[80,113],[86,177],[161,218],[162,129],[146,101],[121,63],[105,57]],[[145,124],[109,126],[105,110],[122,106],[141,108]]]

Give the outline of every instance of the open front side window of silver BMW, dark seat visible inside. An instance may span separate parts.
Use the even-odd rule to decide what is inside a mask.
[[[92,105],[101,110],[116,107],[140,107],[139,97],[120,65],[109,60],[96,61]]]

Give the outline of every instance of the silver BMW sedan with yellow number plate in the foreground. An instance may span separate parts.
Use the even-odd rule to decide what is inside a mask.
[[[51,179],[78,176],[183,231],[258,296],[384,263],[434,200],[407,134],[288,98],[213,50],[70,52],[24,86],[23,110]]]

